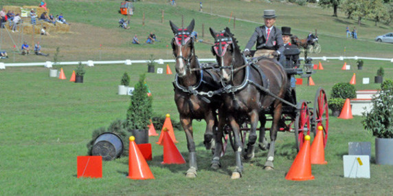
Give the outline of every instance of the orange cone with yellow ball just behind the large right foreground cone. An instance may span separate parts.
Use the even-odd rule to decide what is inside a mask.
[[[325,160],[324,127],[318,126],[317,135],[311,144],[311,164],[328,164]]]

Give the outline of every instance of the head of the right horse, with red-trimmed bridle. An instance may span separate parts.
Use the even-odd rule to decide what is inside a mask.
[[[212,54],[216,56],[216,61],[221,68],[221,78],[225,82],[229,82],[233,77],[232,69],[236,66],[234,61],[241,56],[237,41],[229,28],[225,28],[221,32],[216,32],[210,28],[210,34],[214,38]]]

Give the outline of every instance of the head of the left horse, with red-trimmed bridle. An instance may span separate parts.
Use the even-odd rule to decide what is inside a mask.
[[[195,21],[192,19],[187,28],[178,28],[172,21],[169,21],[169,23],[173,34],[175,34],[175,37],[170,43],[172,45],[173,56],[176,59],[175,69],[178,76],[186,76],[187,69],[190,69],[191,58],[195,55],[194,41],[191,36]]]

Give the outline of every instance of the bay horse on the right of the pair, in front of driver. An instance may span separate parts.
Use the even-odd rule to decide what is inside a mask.
[[[231,178],[240,178],[243,171],[241,160],[243,144],[240,139],[239,124],[245,122],[251,124],[249,143],[244,155],[245,159],[249,159],[254,157],[258,121],[261,124],[259,142],[262,142],[262,138],[265,138],[265,115],[271,113],[271,111],[273,113],[273,122],[270,129],[271,142],[265,169],[273,169],[274,143],[277,137],[278,122],[282,113],[282,102],[277,98],[284,98],[287,88],[287,74],[275,59],[254,58],[258,61],[247,63],[229,28],[225,28],[221,32],[215,32],[210,28],[210,33],[215,39],[212,52],[216,56],[218,66],[221,67],[221,83],[224,87],[221,97],[223,99],[225,118],[219,116],[218,133],[223,133],[223,124],[226,123],[232,128],[234,135],[236,168],[232,172]],[[217,135],[216,138],[221,137],[222,135]],[[219,158],[221,150],[218,147],[219,145],[222,145],[222,142],[216,140],[212,167]]]

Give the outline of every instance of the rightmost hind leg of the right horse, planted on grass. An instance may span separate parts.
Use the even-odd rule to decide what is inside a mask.
[[[270,129],[270,147],[269,153],[267,153],[267,161],[265,162],[266,170],[273,170],[274,168],[274,143],[276,142],[277,138],[278,121],[281,119],[282,102],[276,100],[275,105],[277,105],[277,107],[275,107],[273,111],[273,123],[271,124]]]

